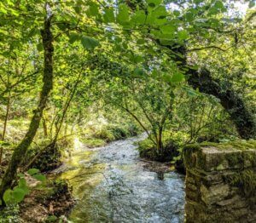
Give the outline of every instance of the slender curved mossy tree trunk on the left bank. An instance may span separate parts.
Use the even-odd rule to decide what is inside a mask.
[[[0,197],[3,199],[3,193],[12,185],[13,180],[17,173],[17,169],[22,161],[22,157],[26,153],[28,147],[31,145],[35,134],[38,131],[39,123],[41,121],[44,107],[49,96],[49,92],[53,86],[53,35],[50,31],[51,17],[49,16],[44,20],[44,29],[41,31],[44,46],[44,76],[43,76],[43,88],[40,94],[38,108],[33,111],[33,117],[26,132],[25,137],[21,140],[19,146],[15,147],[15,152],[12,155],[8,169],[3,175],[2,184],[0,186]]]

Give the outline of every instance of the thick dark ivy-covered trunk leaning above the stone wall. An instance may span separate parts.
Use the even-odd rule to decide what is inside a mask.
[[[201,71],[189,70],[189,85],[199,89],[202,93],[212,94],[220,100],[220,104],[236,125],[238,134],[242,139],[254,139],[256,137],[256,121],[253,112],[249,110],[245,101],[229,83],[229,89],[221,88],[219,80],[211,77],[207,69]]]

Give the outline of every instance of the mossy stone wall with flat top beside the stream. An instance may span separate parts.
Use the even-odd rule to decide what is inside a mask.
[[[184,148],[186,222],[256,222],[256,148]]]

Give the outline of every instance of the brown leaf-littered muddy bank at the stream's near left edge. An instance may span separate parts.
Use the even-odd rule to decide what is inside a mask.
[[[73,208],[72,190],[65,180],[48,180],[44,186],[32,187],[20,203],[20,222],[55,222],[67,219]]]

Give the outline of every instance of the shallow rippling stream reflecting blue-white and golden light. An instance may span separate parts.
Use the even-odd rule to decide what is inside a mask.
[[[78,203],[72,222],[183,222],[184,181],[174,171],[149,171],[134,143],[144,135],[73,152],[61,178]],[[63,168],[63,167],[62,167]]]

